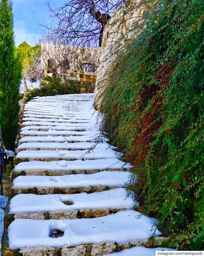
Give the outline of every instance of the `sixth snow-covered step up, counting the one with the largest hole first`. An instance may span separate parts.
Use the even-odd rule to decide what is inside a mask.
[[[37,150],[37,149],[49,149],[49,150],[84,150],[84,149],[90,149],[90,148],[100,148],[101,150],[106,150],[107,148],[116,149],[114,146],[110,146],[108,143],[98,143],[95,144],[93,142],[74,142],[74,143],[68,143],[68,142],[24,142],[20,144],[17,148],[17,152],[21,150]]]

